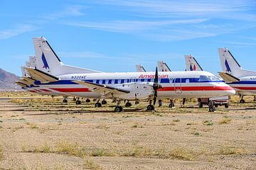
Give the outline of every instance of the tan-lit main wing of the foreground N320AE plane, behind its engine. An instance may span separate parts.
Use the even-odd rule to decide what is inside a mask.
[[[106,86],[103,84],[94,84],[88,81],[82,81],[82,80],[75,80],[73,81],[77,84],[81,84],[83,86],[89,87],[92,91],[97,91],[100,94],[107,95],[107,94],[129,94],[130,91],[119,89],[112,86]]]

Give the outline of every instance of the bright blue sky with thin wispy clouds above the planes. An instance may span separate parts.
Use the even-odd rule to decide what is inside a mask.
[[[191,54],[220,71],[218,47],[256,70],[256,1],[0,0],[0,67],[21,75],[44,36],[65,64],[104,72],[153,71],[157,60],[184,70]]]

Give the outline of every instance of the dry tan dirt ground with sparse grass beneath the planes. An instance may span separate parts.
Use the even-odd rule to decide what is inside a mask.
[[[255,103],[146,105],[0,98],[0,169],[256,169]]]

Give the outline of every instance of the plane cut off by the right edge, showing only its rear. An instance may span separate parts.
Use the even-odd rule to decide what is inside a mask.
[[[240,94],[240,103],[245,103],[243,96],[256,94],[256,72],[242,69],[228,48],[219,48],[218,52],[223,70],[220,77]]]

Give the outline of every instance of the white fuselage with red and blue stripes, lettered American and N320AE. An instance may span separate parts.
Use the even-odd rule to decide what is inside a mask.
[[[59,81],[38,84],[39,86],[69,94],[70,96],[79,96],[84,98],[105,98],[102,94],[73,81],[82,80],[93,84],[102,84],[106,86],[118,87],[119,89],[137,87],[142,95],[153,93],[152,89],[143,91],[143,84],[154,81],[154,72],[118,72],[118,73],[90,73],[90,74],[65,74],[58,76]],[[180,97],[214,97],[227,96],[235,94],[233,88],[209,72],[159,72],[159,84],[163,89],[158,90],[158,98],[180,98]],[[136,89],[136,87],[134,87]],[[110,97],[111,98],[111,97]],[[136,98],[125,98],[124,96],[114,96],[136,100]],[[149,98],[149,95],[146,97]],[[146,99],[144,98],[144,99]]]

